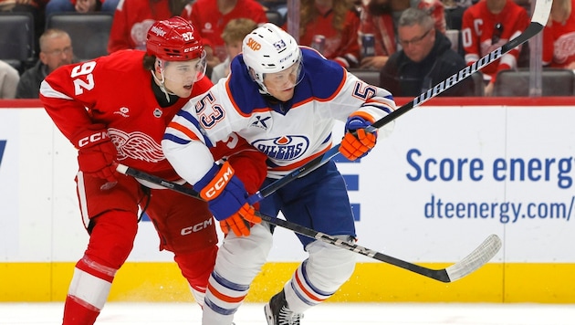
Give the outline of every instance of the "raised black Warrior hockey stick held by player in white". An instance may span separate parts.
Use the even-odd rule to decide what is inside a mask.
[[[485,57],[477,60],[471,66],[465,67],[461,69],[459,72],[455,73],[453,76],[449,77],[448,79],[441,81],[440,83],[435,85],[433,89],[428,89],[423,94],[415,97],[415,99],[403,105],[399,109],[392,111],[392,113],[386,115],[382,119],[373,122],[373,124],[371,124],[372,129],[367,128],[366,131],[375,131],[375,129],[382,128],[384,125],[399,118],[406,112],[412,110],[413,108],[419,105],[422,105],[425,101],[431,100],[437,95],[443,93],[445,90],[452,88],[463,79],[466,79],[472,74],[474,74],[476,71],[485,68],[488,64],[501,58],[511,49],[527,42],[529,38],[538,35],[538,33],[541,30],[543,30],[543,27],[545,27],[545,25],[547,24],[552,3],[553,3],[552,0],[537,0],[535,4],[535,9],[533,10],[533,16],[531,17],[531,23],[529,24],[527,29],[523,33],[521,33],[521,35],[508,41],[503,46],[496,48],[491,53],[488,53]],[[299,167],[297,170],[288,173],[287,175],[280,178],[276,182],[268,184],[266,187],[258,191],[256,194],[251,195],[248,201],[250,203],[256,203],[262,200],[267,195],[276,192],[279,188],[285,186],[294,179],[302,177],[307,173],[311,173],[324,163],[328,163],[328,161],[331,158],[335,157],[339,152],[340,152],[340,144],[332,147],[331,149],[329,149],[328,152],[325,152],[324,154],[316,157],[309,163],[306,163],[305,165]]]

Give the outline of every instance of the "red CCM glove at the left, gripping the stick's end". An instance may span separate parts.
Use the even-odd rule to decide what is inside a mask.
[[[108,131],[101,124],[90,125],[88,130],[76,134],[72,142],[78,148],[78,166],[83,173],[108,181],[104,186],[113,186],[116,179],[116,157],[118,151],[110,141]]]

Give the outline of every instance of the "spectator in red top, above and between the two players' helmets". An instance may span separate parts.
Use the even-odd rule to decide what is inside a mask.
[[[182,16],[200,29],[208,68],[214,68],[227,57],[222,32],[230,20],[249,18],[258,25],[267,23],[264,6],[256,0],[196,0],[186,5]]]

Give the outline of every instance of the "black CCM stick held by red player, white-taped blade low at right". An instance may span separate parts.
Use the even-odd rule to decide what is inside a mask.
[[[140,179],[142,181],[155,183],[155,184],[161,185],[165,188],[171,189],[175,192],[178,192],[181,194],[186,194],[186,195],[192,196],[196,199],[202,200],[200,195],[197,192],[195,192],[192,188],[183,186],[179,183],[173,183],[173,182],[163,180],[160,177],[151,175],[149,173],[144,173],[144,172],[138,171],[136,169],[133,169],[133,168],[128,167],[128,166],[123,165],[123,164],[118,165],[117,171],[119,173],[130,175],[130,176],[137,178],[137,179]],[[480,246],[477,246],[477,248],[473,252],[471,252],[471,254],[469,254],[467,257],[465,257],[461,261],[455,263],[454,265],[452,265],[450,267],[446,267],[446,268],[442,268],[442,269],[432,269],[432,268],[427,268],[427,267],[421,267],[421,266],[415,265],[413,263],[403,261],[403,260],[396,258],[396,257],[390,257],[390,256],[387,256],[385,254],[382,254],[380,252],[371,250],[371,249],[363,247],[363,246],[350,244],[350,243],[343,241],[341,239],[338,239],[336,237],[320,233],[318,231],[315,231],[313,229],[309,229],[309,228],[302,226],[302,225],[290,223],[290,222],[283,220],[283,219],[279,219],[279,218],[268,216],[268,215],[262,215],[260,213],[257,213],[256,215],[261,217],[262,220],[267,221],[269,224],[278,225],[280,227],[289,229],[289,230],[291,230],[295,233],[298,233],[300,235],[308,236],[310,238],[317,239],[317,240],[322,241],[324,243],[327,243],[327,244],[330,244],[333,246],[338,246],[340,248],[350,250],[352,252],[361,254],[361,255],[366,256],[366,257],[371,257],[373,259],[377,259],[379,261],[391,264],[391,265],[396,266],[396,267],[402,267],[402,268],[410,270],[414,273],[420,274],[424,277],[433,278],[433,279],[441,281],[441,282],[453,282],[459,278],[464,278],[465,276],[475,272],[479,267],[482,267],[492,257],[494,257],[497,254],[497,251],[499,251],[499,248],[501,247],[501,240],[499,239],[499,237],[497,235],[491,235],[491,236],[488,236],[486,238],[486,240]]]

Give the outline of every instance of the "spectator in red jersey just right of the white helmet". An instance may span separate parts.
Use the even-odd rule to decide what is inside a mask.
[[[344,68],[359,67],[360,17],[350,1],[302,0],[299,13],[300,45],[316,48],[325,58]]]

